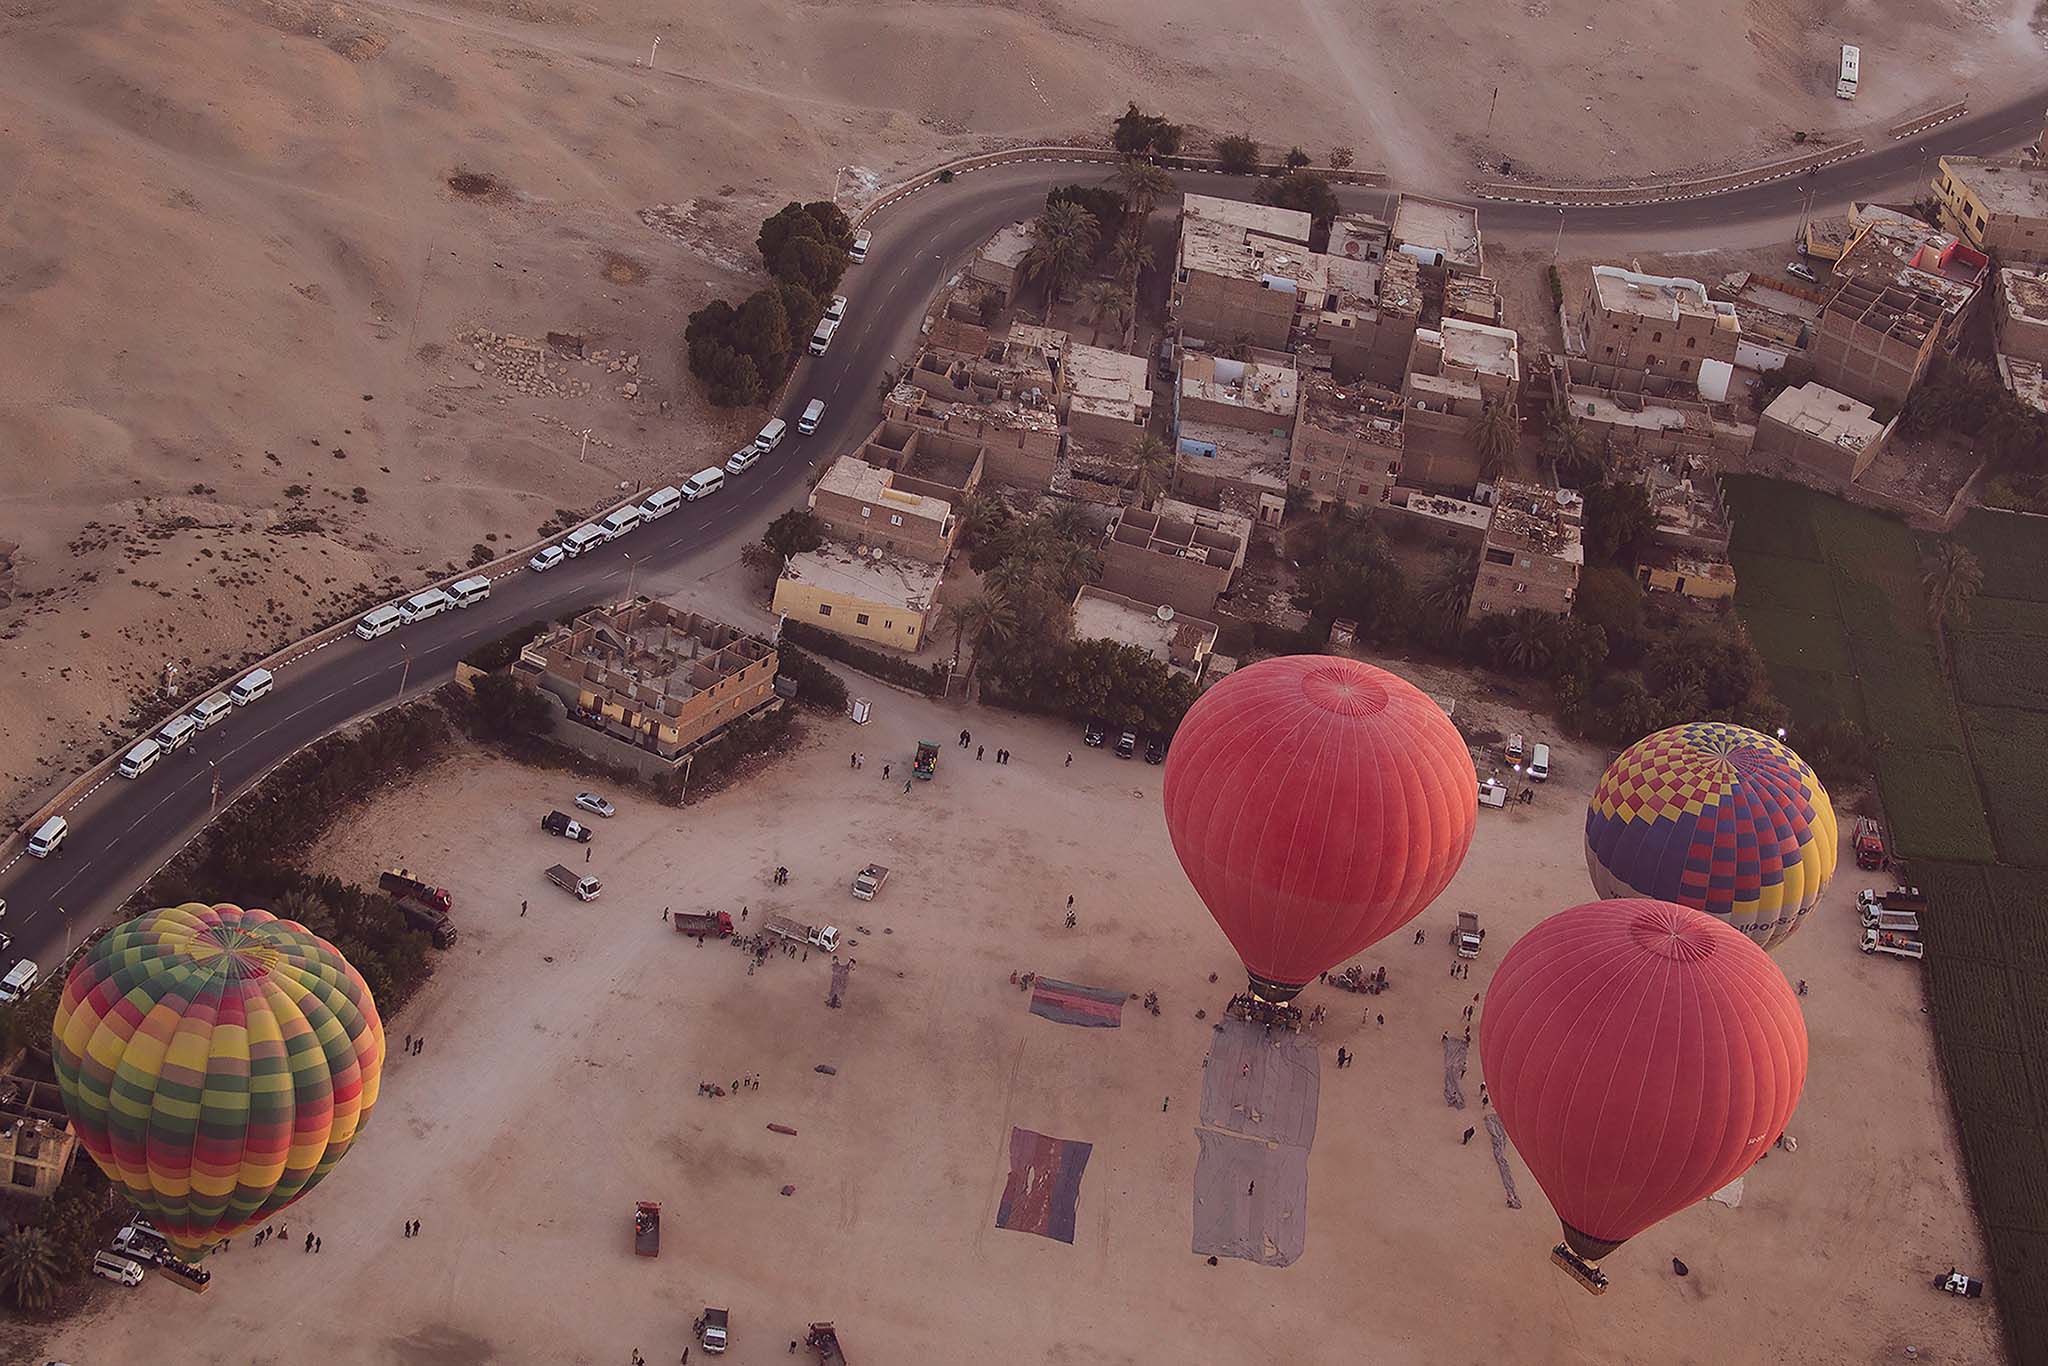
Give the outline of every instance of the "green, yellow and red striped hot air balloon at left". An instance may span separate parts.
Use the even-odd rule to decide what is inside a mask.
[[[197,901],[96,942],[51,1038],[80,1143],[188,1260],[334,1169],[385,1057],[377,1004],[334,944]]]

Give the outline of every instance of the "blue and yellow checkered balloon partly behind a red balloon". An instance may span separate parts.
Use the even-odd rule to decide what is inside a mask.
[[[1798,930],[1837,852],[1835,807],[1806,760],[1726,721],[1645,735],[1585,809],[1595,893],[1690,905],[1761,948]]]

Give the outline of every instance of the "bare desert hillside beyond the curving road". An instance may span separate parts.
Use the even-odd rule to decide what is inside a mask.
[[[2032,80],[2030,2],[14,0],[0,809],[166,680],[190,698],[729,451],[750,416],[694,397],[676,340],[750,287],[793,197],[1100,137],[1128,98],[1411,188],[1501,156],[1724,164]],[[1829,94],[1845,39],[1853,106]]]

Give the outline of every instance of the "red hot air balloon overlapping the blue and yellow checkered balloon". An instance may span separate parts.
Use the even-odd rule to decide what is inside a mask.
[[[1589,901],[1501,958],[1479,1061],[1567,1247],[1591,1264],[1769,1151],[1806,1083],[1806,1020],[1726,922]]]

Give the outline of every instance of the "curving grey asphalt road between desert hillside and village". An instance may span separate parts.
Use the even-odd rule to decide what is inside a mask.
[[[1628,209],[1559,209],[1534,205],[1483,205],[1487,231],[1649,233],[1671,229],[1731,229],[1798,211],[1808,184],[1817,201],[1847,197],[1915,195],[1939,152],[1989,154],[2032,141],[2042,129],[2044,96],[1972,115],[1870,156],[1753,190],[1677,205]],[[750,473],[727,479],[702,504],[684,504],[625,541],[571,559],[549,573],[516,569],[477,606],[444,612],[418,627],[377,641],[342,637],[315,653],[279,668],[270,696],[240,707],[203,731],[178,754],[137,780],[111,776],[80,797],[63,815],[70,838],[53,858],[14,856],[0,866],[0,897],[8,915],[0,928],[14,936],[14,954],[45,967],[61,961],[72,936],[98,924],[133,887],[147,879],[209,819],[215,774],[221,801],[289,758],[301,745],[362,717],[406,692],[444,682],[471,647],[526,621],[553,618],[571,606],[625,596],[629,584],[731,559],[733,541],[793,502],[811,467],[825,455],[854,446],[879,412],[881,375],[913,354],[918,324],[932,291],[946,281],[999,225],[1028,217],[1051,184],[1100,182],[1098,164],[1014,164],[961,176],[952,184],[911,195],[872,221],[874,246],[866,264],[848,270],[848,319],[825,356],[805,356],[782,405],[788,436]],[[1247,182],[1229,176],[1184,176],[1188,188],[1247,195]],[[1384,213],[1389,195],[1341,193],[1348,207]],[[797,416],[811,397],[825,399],[825,422],[815,436],[797,434]],[[721,457],[723,459],[723,457]],[[682,481],[690,471],[672,471]],[[373,872],[365,868],[367,877]],[[231,887],[219,889],[231,899]],[[457,909],[461,917],[461,909]],[[0,963],[4,965],[4,963]]]

